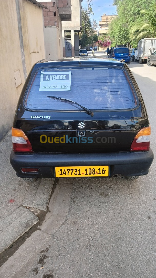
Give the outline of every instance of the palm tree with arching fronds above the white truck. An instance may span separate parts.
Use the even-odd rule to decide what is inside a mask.
[[[146,10],[141,10],[140,13],[146,15],[147,21],[132,26],[130,30],[131,32],[130,38],[136,41],[145,38],[155,38],[156,37],[156,13],[152,14]]]

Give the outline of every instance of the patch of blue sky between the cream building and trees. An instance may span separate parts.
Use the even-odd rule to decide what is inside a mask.
[[[105,13],[106,15],[112,15],[113,13],[116,14],[116,6],[113,6],[113,0],[92,0],[93,6],[93,13],[91,15],[91,20],[96,20],[97,24],[101,16]],[[82,1],[82,8],[87,7],[86,0]]]

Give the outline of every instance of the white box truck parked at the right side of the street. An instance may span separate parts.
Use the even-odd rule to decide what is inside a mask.
[[[142,64],[142,61],[147,60],[147,57],[154,53],[155,50],[156,38],[141,39],[135,51],[134,62],[136,63],[139,60],[139,63]]]

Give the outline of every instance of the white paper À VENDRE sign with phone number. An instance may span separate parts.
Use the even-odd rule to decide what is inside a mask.
[[[39,91],[70,91],[71,71],[43,72],[41,71]]]

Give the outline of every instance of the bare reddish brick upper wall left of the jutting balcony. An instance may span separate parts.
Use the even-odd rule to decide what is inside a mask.
[[[62,0],[67,1],[67,0]],[[43,18],[44,18],[44,26],[57,26],[59,28],[59,15],[58,15],[58,9],[56,6],[54,6],[53,2],[40,2],[44,6],[46,6],[48,9],[43,9]],[[56,16],[54,16],[54,12],[56,13]],[[56,21],[56,25],[55,25]]]

